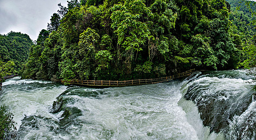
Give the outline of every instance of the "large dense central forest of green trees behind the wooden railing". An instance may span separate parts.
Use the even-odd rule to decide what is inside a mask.
[[[31,47],[22,78],[125,80],[235,68],[242,38],[251,32],[236,27],[241,19],[225,0],[71,0],[59,6],[50,35]]]

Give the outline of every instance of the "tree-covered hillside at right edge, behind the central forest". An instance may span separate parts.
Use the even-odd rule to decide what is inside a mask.
[[[245,0],[228,0],[233,6],[230,19],[237,26],[242,40],[244,60],[237,68],[245,68],[256,79],[256,2]],[[255,87],[254,87],[255,88]],[[255,88],[256,89],[256,88]]]

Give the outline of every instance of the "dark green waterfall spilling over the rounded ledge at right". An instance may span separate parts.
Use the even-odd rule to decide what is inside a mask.
[[[200,74],[199,74],[200,75]],[[184,98],[198,107],[204,126],[225,139],[256,139],[254,84],[244,71],[205,72],[188,83]]]

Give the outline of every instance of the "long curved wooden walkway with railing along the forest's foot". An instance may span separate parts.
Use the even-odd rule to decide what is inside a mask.
[[[143,84],[156,84],[161,82],[166,82],[173,80],[175,78],[182,78],[190,76],[195,69],[188,70],[173,76],[155,78],[155,79],[138,79],[138,80],[128,80],[128,81],[95,81],[95,80],[61,80],[62,84],[75,84],[79,86],[99,86],[99,87],[121,87],[121,86],[135,86]]]

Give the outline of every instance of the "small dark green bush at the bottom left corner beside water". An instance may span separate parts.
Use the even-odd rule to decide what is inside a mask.
[[[7,112],[5,106],[0,106],[0,140],[12,139],[14,137],[14,126],[13,115]]]

